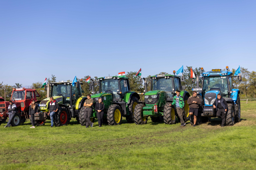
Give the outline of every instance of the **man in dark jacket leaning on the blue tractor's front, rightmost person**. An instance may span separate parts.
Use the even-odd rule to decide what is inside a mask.
[[[218,118],[222,118],[221,126],[224,127],[224,124],[226,122],[226,113],[227,113],[228,104],[226,100],[221,97],[221,94],[217,95],[217,99],[213,103],[213,108],[216,108],[217,110],[216,116]]]

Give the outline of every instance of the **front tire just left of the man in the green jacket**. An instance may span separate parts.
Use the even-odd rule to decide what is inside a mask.
[[[170,106],[171,102],[165,104],[163,108],[163,122],[165,124],[175,124],[176,123],[176,114],[173,106]]]

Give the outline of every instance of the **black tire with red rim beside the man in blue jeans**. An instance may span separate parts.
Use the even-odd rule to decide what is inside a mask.
[[[55,126],[68,125],[70,122],[70,114],[66,107],[59,107],[58,112],[55,114]]]

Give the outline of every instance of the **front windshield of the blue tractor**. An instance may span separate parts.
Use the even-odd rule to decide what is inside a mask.
[[[207,91],[221,90],[223,98],[228,97],[227,77],[204,77],[203,78],[203,97]]]

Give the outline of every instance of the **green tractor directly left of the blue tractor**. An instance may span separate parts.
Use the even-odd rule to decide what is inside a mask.
[[[147,91],[147,82],[143,78],[145,81],[144,102],[137,102],[138,104],[134,108],[134,122],[136,124],[146,124],[148,116],[153,122],[163,120],[166,124],[175,124],[177,113],[174,107],[169,106],[169,104],[172,103],[177,90],[181,91],[180,95],[185,103],[183,119],[185,122],[189,120],[187,99],[190,95],[184,91],[186,86],[181,85],[185,79],[175,75],[175,71],[173,73],[174,75],[159,74],[150,77],[150,91]],[[140,83],[142,84],[142,79]],[[180,121],[179,117],[178,120]]]

